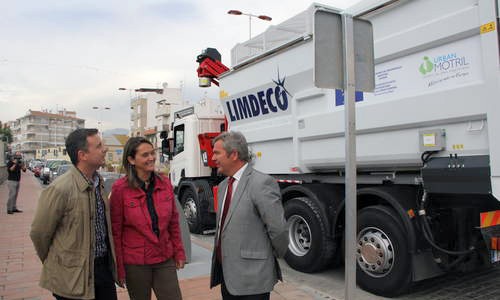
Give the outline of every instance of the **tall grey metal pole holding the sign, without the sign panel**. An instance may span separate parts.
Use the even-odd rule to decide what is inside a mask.
[[[356,290],[356,103],[354,76],[354,33],[351,15],[342,14],[345,113],[345,300],[354,299]]]

